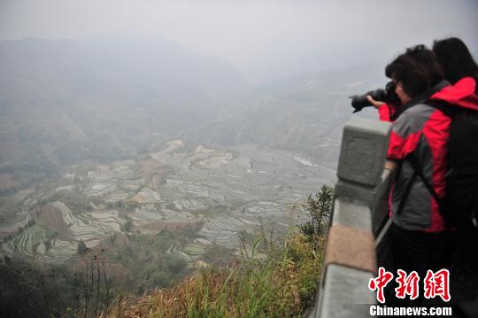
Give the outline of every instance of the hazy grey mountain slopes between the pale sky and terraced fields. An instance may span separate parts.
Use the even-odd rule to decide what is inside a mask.
[[[370,65],[251,89],[221,58],[115,36],[3,41],[0,67],[0,193],[59,167],[132,158],[176,138],[264,144],[335,167],[348,96],[385,84],[382,66]]]

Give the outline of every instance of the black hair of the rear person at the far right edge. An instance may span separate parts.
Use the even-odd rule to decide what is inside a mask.
[[[478,65],[466,44],[459,38],[436,40],[433,43],[433,51],[438,62],[443,66],[447,81],[454,84],[466,76],[478,78]]]

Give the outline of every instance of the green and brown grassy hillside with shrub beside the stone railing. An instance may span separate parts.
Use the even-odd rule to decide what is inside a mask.
[[[311,221],[281,243],[261,232],[227,267],[207,268],[172,289],[147,293],[133,306],[117,299],[111,317],[300,317],[319,282],[332,190],[302,206]]]

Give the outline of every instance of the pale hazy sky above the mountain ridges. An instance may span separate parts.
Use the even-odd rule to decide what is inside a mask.
[[[0,0],[0,40],[159,36],[260,82],[320,54],[331,64],[366,63],[368,52],[388,61],[450,35],[477,55],[477,9],[475,0]]]

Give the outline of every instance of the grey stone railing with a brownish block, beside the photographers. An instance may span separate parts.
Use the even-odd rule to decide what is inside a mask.
[[[343,128],[324,269],[310,318],[370,317],[375,294],[368,282],[389,262],[388,142],[386,122],[354,118]]]

